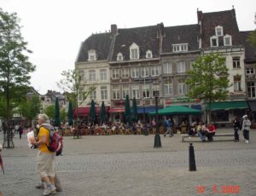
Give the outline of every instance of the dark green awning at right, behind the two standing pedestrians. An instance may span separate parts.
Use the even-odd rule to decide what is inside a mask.
[[[211,103],[211,110],[234,110],[249,108],[247,101],[221,101]],[[210,110],[210,104],[207,103],[207,110]]]

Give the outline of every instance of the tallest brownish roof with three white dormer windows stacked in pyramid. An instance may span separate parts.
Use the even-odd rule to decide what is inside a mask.
[[[215,35],[215,27],[223,26],[224,35],[229,34],[232,37],[232,45],[241,45],[239,29],[236,22],[236,12],[235,9],[212,12],[212,13],[202,13],[198,11],[198,20],[201,20],[201,38],[202,38],[202,48],[211,47],[210,37]],[[219,46],[223,46],[222,37],[219,37]]]

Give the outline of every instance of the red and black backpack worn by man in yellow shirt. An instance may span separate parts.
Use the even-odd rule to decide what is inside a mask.
[[[59,135],[58,131],[56,131],[53,126],[43,124],[41,127],[49,130],[49,146],[46,145],[48,150],[50,152],[55,152],[56,156],[61,155],[63,150],[63,137]]]

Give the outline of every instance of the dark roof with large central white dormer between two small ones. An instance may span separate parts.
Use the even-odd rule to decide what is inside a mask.
[[[130,46],[136,43],[140,49],[140,59],[146,58],[146,51],[152,51],[153,58],[160,57],[158,26],[143,26],[136,28],[119,29],[115,37],[111,61],[117,61],[117,55],[122,53],[123,60],[130,60]]]

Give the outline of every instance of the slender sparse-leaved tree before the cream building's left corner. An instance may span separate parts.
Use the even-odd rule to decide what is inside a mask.
[[[88,89],[84,90],[84,86],[81,83],[82,76],[79,74],[79,69],[67,70],[61,73],[62,79],[58,84],[59,88],[65,92],[67,95],[67,100],[73,103],[73,106],[77,108],[80,104],[86,100],[87,96],[95,90],[94,86],[90,86]],[[76,115],[76,129],[78,129],[78,112]],[[78,135],[79,136],[79,135]]]

